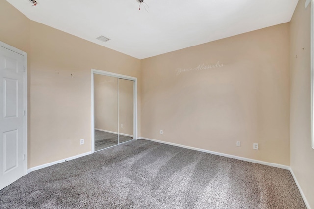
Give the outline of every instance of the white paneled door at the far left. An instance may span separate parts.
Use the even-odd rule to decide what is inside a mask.
[[[23,61],[0,46],[0,189],[24,175]]]

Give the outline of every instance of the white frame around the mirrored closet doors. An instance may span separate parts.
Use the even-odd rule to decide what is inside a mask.
[[[133,110],[133,138],[137,139],[137,78],[131,77],[127,75],[121,75],[113,72],[107,72],[103,70],[96,70],[91,69],[91,83],[92,83],[92,96],[91,96],[91,151],[92,153],[95,152],[95,104],[94,104],[94,75],[105,75],[115,78],[121,78],[125,80],[131,80],[134,81],[134,88],[133,88],[133,101],[134,101],[134,110]],[[117,124],[119,126],[119,124]]]

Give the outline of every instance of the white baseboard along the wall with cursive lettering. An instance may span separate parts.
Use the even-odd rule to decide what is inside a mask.
[[[168,145],[177,146],[177,147],[182,147],[182,148],[186,148],[186,149],[192,149],[192,150],[196,150],[196,151],[200,151],[200,152],[206,152],[206,153],[210,153],[213,155],[219,155],[219,156],[223,156],[223,157],[227,157],[227,158],[233,158],[233,159],[237,159],[237,160],[241,160],[241,161],[247,161],[247,162],[251,162],[251,163],[258,163],[258,164],[262,164],[262,165],[268,165],[271,167],[282,168],[285,170],[290,169],[290,167],[287,165],[269,163],[269,162],[259,161],[259,160],[255,160],[255,159],[251,159],[251,158],[244,158],[244,157],[239,157],[239,156],[235,156],[235,155],[229,155],[229,154],[225,154],[225,153],[214,152],[214,151],[210,151],[210,150],[206,150],[206,149],[200,149],[200,148],[185,146],[185,145],[181,145],[181,144],[175,144],[175,143],[170,143],[170,142],[166,142],[166,141],[160,141],[160,140],[156,140],[156,139],[149,139],[149,138],[145,138],[145,137],[141,137],[141,139],[154,141],[154,142],[158,142],[158,143],[163,143],[163,144],[168,144]]]

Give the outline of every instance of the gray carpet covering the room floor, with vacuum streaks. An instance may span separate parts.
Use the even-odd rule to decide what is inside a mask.
[[[306,209],[288,170],[133,140],[33,171],[1,209]]]

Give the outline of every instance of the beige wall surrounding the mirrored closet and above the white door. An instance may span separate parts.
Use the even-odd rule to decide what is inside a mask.
[[[0,15],[0,40],[28,53],[28,168],[90,151],[91,68],[140,84],[140,60],[30,21],[4,0]]]

